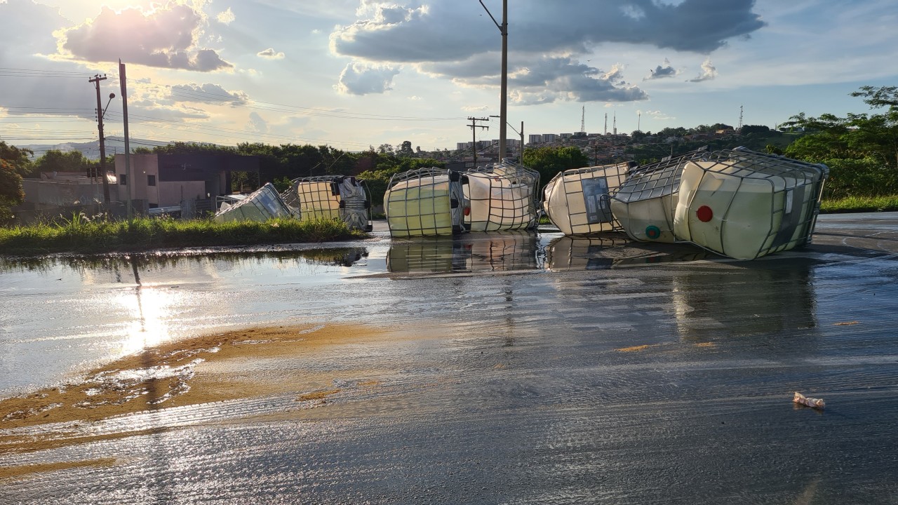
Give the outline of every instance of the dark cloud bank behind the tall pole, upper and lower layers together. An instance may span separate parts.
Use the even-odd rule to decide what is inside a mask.
[[[752,12],[753,6],[754,0],[683,0],[677,4],[630,0],[623,5],[617,0],[568,0],[564,8],[577,15],[559,16],[557,4],[520,0],[515,4],[514,33],[509,36],[509,63],[526,62],[528,68],[509,68],[509,75],[516,73],[517,84],[532,81],[549,86],[548,90],[522,92],[521,99],[530,102],[643,100],[647,95],[638,87],[568,58],[603,43],[708,54],[727,40],[747,37],[764,26]],[[471,27],[472,22],[482,26],[459,29]],[[460,84],[495,86],[500,39],[480,5],[462,8],[448,1],[388,4],[362,0],[357,20],[331,32],[330,50],[356,61],[411,64],[408,67]],[[549,58],[541,61],[544,69],[555,66],[560,74],[550,77],[534,69],[531,62],[539,58]],[[658,76],[676,73],[669,64],[659,68]]]

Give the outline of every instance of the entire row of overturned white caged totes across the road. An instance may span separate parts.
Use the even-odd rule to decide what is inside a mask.
[[[503,161],[453,172],[425,168],[392,177],[383,195],[392,236],[528,230],[544,212],[564,235],[624,232],[639,242],[686,242],[738,260],[809,244],[829,171],[744,147],[700,149],[638,166],[608,164],[540,176]],[[370,231],[371,201],[355,177],[295,179],[277,195],[267,184],[218,220],[336,218]]]

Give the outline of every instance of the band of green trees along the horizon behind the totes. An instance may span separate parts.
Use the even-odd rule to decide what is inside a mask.
[[[852,96],[861,98],[876,113],[850,113],[846,117],[822,114],[807,117],[798,113],[784,123],[785,131],[764,126],[744,126],[738,136],[690,139],[695,134],[732,129],[723,123],[698,128],[664,128],[655,137],[664,142],[628,146],[625,155],[603,159],[603,163],[634,160],[639,164],[658,161],[667,155],[680,155],[700,146],[725,149],[746,146],[756,151],[826,164],[830,179],[828,198],[850,196],[888,196],[898,194],[898,86],[863,86]],[[635,140],[645,140],[651,132],[633,132]],[[175,142],[166,146],[137,147],[135,154],[215,154],[255,155],[260,159],[259,173],[233,173],[233,189],[254,189],[264,182],[285,190],[297,177],[352,175],[367,182],[372,203],[383,202],[392,175],[408,170],[445,168],[459,154],[422,153],[409,141],[399,146],[382,144],[354,153],[331,146],[284,144],[269,146],[242,143],[237,146]],[[462,153],[463,154],[463,153]],[[9,208],[22,202],[22,178],[39,177],[41,172],[98,173],[99,161],[89,160],[80,152],[48,151],[33,159],[29,149],[9,146],[0,141],[0,219],[9,217]],[[595,160],[592,160],[594,163]],[[111,167],[114,157],[109,156]],[[591,160],[576,146],[531,146],[524,149],[522,163],[540,173],[541,182],[549,182],[557,173],[589,166]]]

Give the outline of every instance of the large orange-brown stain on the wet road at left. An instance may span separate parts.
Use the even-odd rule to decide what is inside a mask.
[[[315,391],[314,399],[324,398],[339,391],[327,388],[335,378],[364,377],[371,371],[297,368],[266,375],[246,372],[242,364],[248,359],[308,358],[344,344],[404,338],[408,335],[359,324],[327,324],[252,328],[165,343],[95,368],[78,382],[0,400],[0,455],[140,434],[90,435],[77,428],[64,433],[62,427],[40,435],[13,431],[41,424],[91,423],[122,414],[297,390]],[[377,381],[365,379],[365,384]]]

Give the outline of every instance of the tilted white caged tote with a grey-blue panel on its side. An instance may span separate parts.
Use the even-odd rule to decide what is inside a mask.
[[[621,188],[629,164],[566,170],[542,189],[542,209],[564,235],[588,235],[621,229],[611,195]]]

